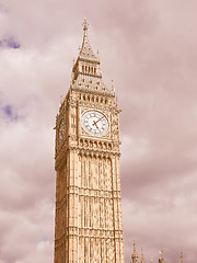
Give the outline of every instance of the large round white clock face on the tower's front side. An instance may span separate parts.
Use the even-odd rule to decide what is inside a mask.
[[[97,111],[88,111],[81,118],[83,129],[92,136],[104,136],[108,132],[107,117]]]

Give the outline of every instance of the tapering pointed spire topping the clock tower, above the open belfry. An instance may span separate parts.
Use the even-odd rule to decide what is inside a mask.
[[[90,59],[90,60],[99,60],[97,57],[94,55],[92,47],[90,45],[90,42],[89,42],[88,26],[89,26],[89,24],[86,22],[86,19],[84,19],[84,22],[83,22],[84,34],[83,34],[83,42],[82,42],[82,46],[81,46],[81,49],[79,53],[79,57],[84,58],[84,59]]]

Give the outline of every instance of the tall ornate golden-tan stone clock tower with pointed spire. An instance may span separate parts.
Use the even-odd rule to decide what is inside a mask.
[[[55,263],[124,263],[119,108],[88,38],[56,117]]]

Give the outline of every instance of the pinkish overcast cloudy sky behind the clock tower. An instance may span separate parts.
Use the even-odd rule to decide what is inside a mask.
[[[0,1],[0,263],[54,254],[55,116],[89,38],[114,80],[125,262],[197,258],[197,1]]]

